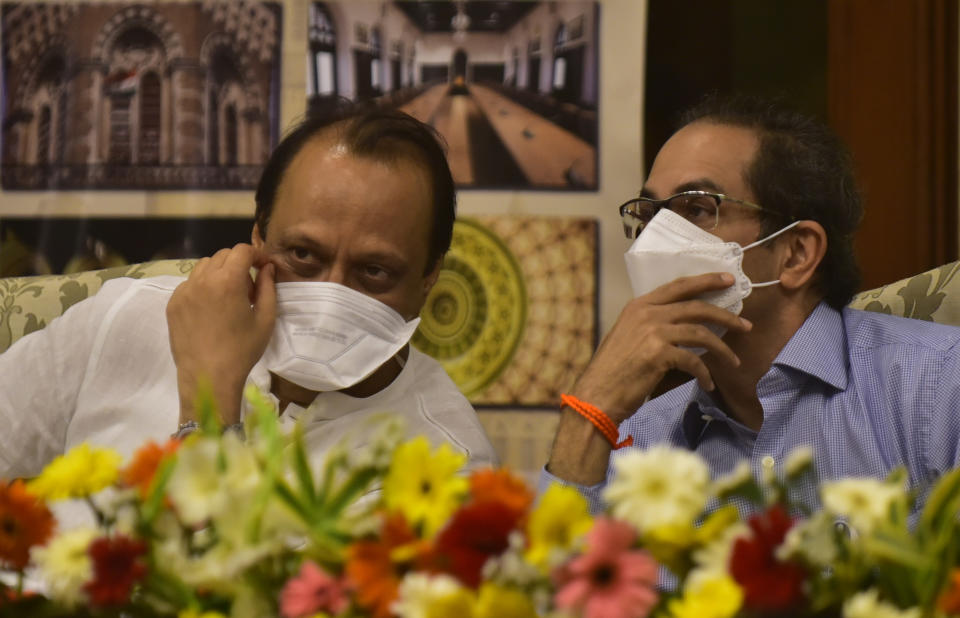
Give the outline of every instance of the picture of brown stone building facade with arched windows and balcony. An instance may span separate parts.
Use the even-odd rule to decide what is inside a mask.
[[[277,141],[270,2],[2,7],[5,190],[250,189]]]

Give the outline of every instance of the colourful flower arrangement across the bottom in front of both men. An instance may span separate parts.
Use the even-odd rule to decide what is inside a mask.
[[[126,464],[81,445],[0,482],[0,615],[960,615],[960,471],[916,517],[901,471],[824,482],[810,510],[794,498],[815,481],[809,451],[711,480],[695,454],[654,447],[614,460],[593,516],[569,487],[535,502],[506,470],[465,476],[462,455],[390,422],[315,469],[247,397],[246,440],[205,405],[200,432]],[[62,500],[95,523],[58,530]]]

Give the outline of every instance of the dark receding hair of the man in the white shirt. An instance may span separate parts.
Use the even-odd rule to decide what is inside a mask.
[[[444,154],[445,144],[437,131],[398,110],[368,105],[341,104],[323,116],[308,116],[293,127],[274,149],[263,168],[255,196],[254,220],[266,238],[273,203],[283,175],[303,146],[327,131],[336,131],[338,141],[358,157],[394,162],[413,159],[429,173],[433,197],[433,225],[426,272],[450,249],[457,195]]]

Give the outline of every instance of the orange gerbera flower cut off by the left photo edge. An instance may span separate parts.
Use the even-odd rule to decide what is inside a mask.
[[[50,509],[23,481],[0,481],[0,565],[24,569],[30,548],[47,542],[54,523]]]

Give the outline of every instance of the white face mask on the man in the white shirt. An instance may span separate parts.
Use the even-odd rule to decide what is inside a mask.
[[[419,317],[407,322],[380,301],[337,283],[278,283],[277,322],[263,359],[267,369],[294,384],[337,391],[390,360],[419,323]]]

